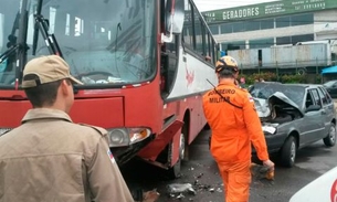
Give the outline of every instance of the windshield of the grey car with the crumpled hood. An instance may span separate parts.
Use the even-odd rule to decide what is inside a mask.
[[[298,107],[303,106],[305,87],[301,85],[286,85],[277,83],[256,83],[250,88],[250,93],[255,98],[267,99],[274,93],[281,92],[293,100]]]

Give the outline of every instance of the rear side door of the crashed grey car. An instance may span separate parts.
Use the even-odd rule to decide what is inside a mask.
[[[318,94],[322,99],[323,108],[326,113],[325,115],[325,135],[327,135],[330,130],[331,120],[335,116],[334,100],[326,92],[324,87],[318,87]]]

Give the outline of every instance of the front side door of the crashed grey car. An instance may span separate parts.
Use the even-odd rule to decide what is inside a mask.
[[[307,91],[305,100],[305,114],[303,121],[301,123],[301,143],[309,143],[322,139],[325,132],[325,120],[324,109],[306,111],[309,106],[322,106],[322,102],[318,96],[318,91],[316,88],[310,88]]]

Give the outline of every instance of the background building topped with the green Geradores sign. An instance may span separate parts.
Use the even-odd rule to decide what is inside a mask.
[[[262,57],[265,52],[275,57],[271,51],[275,46],[299,44],[309,46],[318,43],[317,41],[327,44],[327,54],[330,55],[323,56],[323,60],[330,61],[326,62],[326,65],[336,60],[334,53],[337,52],[337,0],[280,0],[207,11],[202,14],[219,42],[220,50],[225,52],[252,50],[244,53],[254,54],[257,60],[256,64],[260,66],[263,64]],[[318,46],[316,45],[316,47]],[[310,46],[310,51],[318,51],[313,47],[314,45]],[[266,51],[266,49],[270,50]],[[325,50],[324,46],[319,46],[319,49]],[[287,50],[284,49],[284,51]],[[306,54],[307,49],[299,51]],[[315,53],[308,53],[305,57],[312,54]],[[274,66],[282,66],[284,63],[282,57],[278,61],[276,59],[265,60],[276,62],[277,64],[273,64]],[[296,61],[293,62],[296,63]],[[322,63],[322,65],[324,64]],[[273,65],[271,64],[271,66]],[[246,66],[246,68],[249,67]]]

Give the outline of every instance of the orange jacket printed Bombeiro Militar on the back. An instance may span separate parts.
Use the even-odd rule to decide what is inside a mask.
[[[267,160],[267,147],[261,121],[250,94],[234,83],[222,82],[217,91],[234,107],[211,89],[203,96],[203,110],[212,130],[211,153],[217,161],[251,160],[251,142],[260,160]]]

